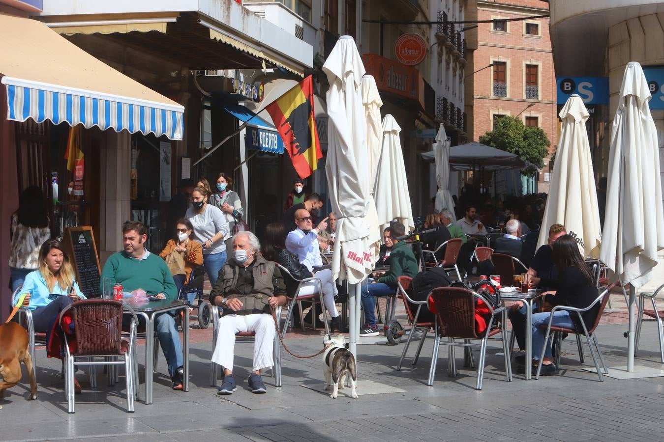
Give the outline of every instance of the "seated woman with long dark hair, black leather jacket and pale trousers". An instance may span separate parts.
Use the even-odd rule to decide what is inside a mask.
[[[293,256],[291,252],[286,249],[286,229],[284,229],[282,223],[270,223],[267,225],[265,229],[265,240],[263,241],[263,257],[266,258],[266,260],[278,262],[284,266],[294,278],[299,280],[315,276],[315,274],[309,272],[307,266],[300,264],[300,262],[297,261],[297,257]],[[297,293],[295,293],[295,291],[297,290],[299,282],[290,278],[290,276],[286,274],[284,274],[284,282],[286,283],[286,292],[288,292],[289,298],[292,298],[295,295],[307,296],[317,293],[316,290],[318,287],[313,281],[303,284]],[[341,318],[339,317],[337,305],[335,305],[334,301],[335,287],[333,284],[334,281],[321,280],[323,302],[332,318],[330,321],[330,333],[333,333],[335,329],[343,331],[341,329]],[[293,321],[297,321],[297,319],[293,319]]]

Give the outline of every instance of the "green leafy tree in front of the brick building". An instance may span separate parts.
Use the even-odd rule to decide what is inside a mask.
[[[493,131],[481,135],[479,142],[517,154],[537,168],[544,166],[544,157],[548,155],[548,146],[551,144],[541,128],[525,126],[515,117],[502,117],[497,120],[493,125]],[[523,172],[534,174],[535,170]]]

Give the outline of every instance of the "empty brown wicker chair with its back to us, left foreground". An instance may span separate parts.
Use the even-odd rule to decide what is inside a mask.
[[[133,316],[129,341],[122,339],[122,316],[127,309]],[[76,338],[76,350],[69,349],[68,333],[64,335],[64,377],[67,410],[74,413],[74,364],[76,365],[120,365],[125,366],[127,388],[127,411],[133,413],[135,383],[137,373],[133,364],[133,347],[136,341],[138,319],[129,305],[122,301],[94,299],[73,302],[60,313],[58,324],[62,327],[62,318],[71,315]],[[103,358],[103,360],[95,360]]]

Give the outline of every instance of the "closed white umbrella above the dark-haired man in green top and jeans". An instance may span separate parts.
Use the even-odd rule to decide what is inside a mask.
[[[415,227],[404,155],[399,140],[400,131],[401,128],[396,124],[394,117],[385,115],[382,119],[382,152],[374,185],[380,231],[388,227],[392,219],[402,223],[406,229]]]

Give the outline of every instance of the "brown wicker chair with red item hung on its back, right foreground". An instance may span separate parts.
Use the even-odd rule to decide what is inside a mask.
[[[448,345],[448,369],[449,376],[456,376],[456,360],[454,358],[454,347],[464,347],[471,349],[479,347],[479,364],[477,364],[477,383],[475,388],[482,389],[482,380],[484,377],[484,364],[486,359],[487,341],[489,337],[501,333],[503,342],[503,355],[505,358],[505,379],[512,381],[512,368],[507,351],[507,310],[505,307],[491,307],[489,301],[481,294],[473,290],[459,287],[440,287],[434,288],[429,295],[433,299],[436,307],[436,341],[434,342],[434,351],[431,359],[431,368],[429,370],[429,379],[427,385],[434,384],[436,376],[436,363],[438,362],[438,349],[440,345]],[[477,300],[482,300],[488,307],[491,317],[487,323],[487,329],[483,333],[477,333],[475,329],[475,305]],[[443,342],[448,338],[448,342]],[[457,342],[456,339],[462,339],[463,342]],[[470,341],[480,340],[481,343],[475,344]]]

